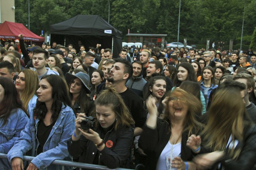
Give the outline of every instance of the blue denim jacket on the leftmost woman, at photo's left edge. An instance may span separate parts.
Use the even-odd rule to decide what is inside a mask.
[[[12,109],[7,123],[0,117],[0,153],[7,154],[13,147],[20,132],[28,123],[28,116],[22,109]],[[7,159],[0,159],[0,170],[10,170],[11,166]]]

